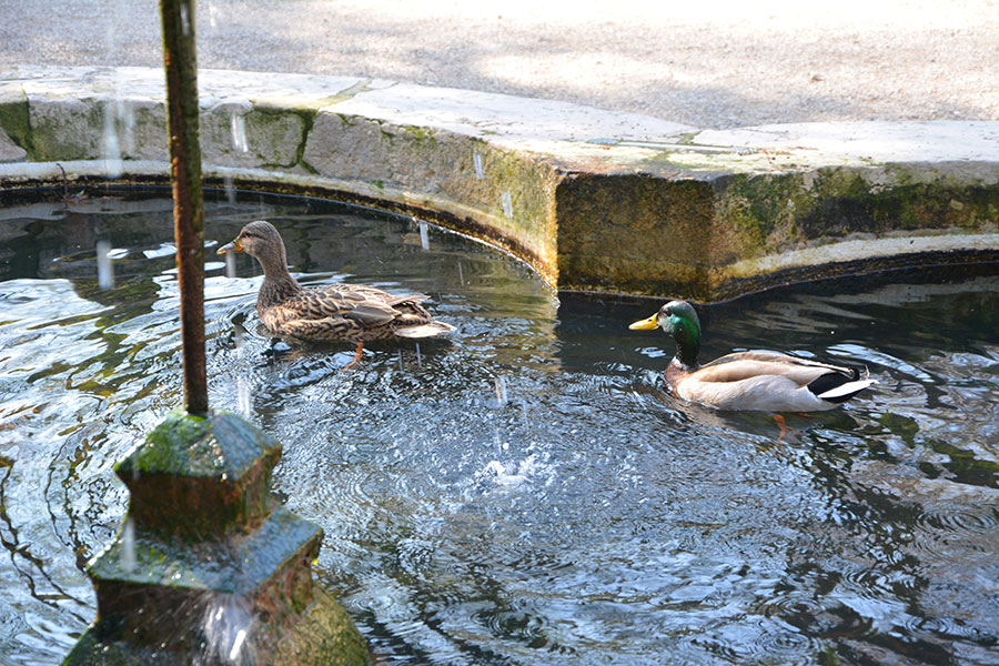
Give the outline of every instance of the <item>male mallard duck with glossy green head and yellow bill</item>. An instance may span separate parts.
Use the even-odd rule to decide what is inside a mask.
[[[737,352],[697,364],[700,322],[686,301],[670,301],[629,329],[663,329],[676,341],[666,366],[675,395],[719,410],[813,412],[831,410],[877,383],[867,369],[830,365],[775,352]]]

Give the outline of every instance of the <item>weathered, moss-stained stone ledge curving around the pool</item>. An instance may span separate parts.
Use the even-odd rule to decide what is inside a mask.
[[[793,280],[999,261],[999,122],[698,131],[544,100],[204,70],[209,184],[420,215],[561,290],[717,301]],[[0,184],[165,182],[163,75],[0,73]],[[211,224],[211,221],[208,221]]]

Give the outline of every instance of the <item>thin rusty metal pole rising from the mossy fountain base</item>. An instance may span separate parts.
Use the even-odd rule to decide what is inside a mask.
[[[204,361],[204,199],[198,141],[198,62],[194,0],[160,0],[167,128],[173,183],[173,234],[180,285],[184,357],[184,406],[208,414]]]

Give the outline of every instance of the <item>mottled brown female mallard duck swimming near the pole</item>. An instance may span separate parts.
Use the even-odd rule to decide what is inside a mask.
[[[258,220],[245,225],[219,254],[245,252],[256,259],[264,281],[256,297],[256,313],[278,335],[303,340],[354,342],[354,361],[364,343],[394,337],[431,337],[454,326],[435,321],[420,305],[422,294],[393,296],[360,284],[330,284],[303,289],[287,272],[284,241],[274,225]]]

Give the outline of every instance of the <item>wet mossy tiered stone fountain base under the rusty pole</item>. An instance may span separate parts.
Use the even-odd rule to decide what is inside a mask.
[[[270,496],[280,455],[232,414],[174,414],[119,463],[129,512],[88,567],[98,618],[64,664],[370,664],[312,581],[322,531]]]

